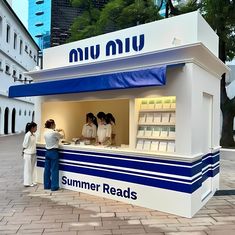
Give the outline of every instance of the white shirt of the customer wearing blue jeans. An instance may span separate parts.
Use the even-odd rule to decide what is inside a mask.
[[[46,149],[59,148],[59,140],[63,135],[53,129],[46,129],[44,132],[44,139],[46,142]]]

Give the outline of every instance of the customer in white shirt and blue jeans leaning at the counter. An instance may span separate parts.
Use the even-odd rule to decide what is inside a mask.
[[[44,189],[56,191],[59,189],[59,140],[64,137],[63,130],[55,130],[56,124],[53,119],[45,123],[46,131],[44,138],[46,142]]]

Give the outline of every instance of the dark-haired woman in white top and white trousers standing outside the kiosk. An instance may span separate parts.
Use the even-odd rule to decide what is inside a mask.
[[[27,123],[23,142],[24,158],[24,186],[35,186],[34,168],[36,164],[36,136],[37,124],[34,122]]]

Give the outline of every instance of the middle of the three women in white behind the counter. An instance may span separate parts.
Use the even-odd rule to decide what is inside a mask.
[[[111,145],[111,124],[106,123],[106,115],[104,112],[97,114],[98,130],[97,130],[97,143],[102,145]]]

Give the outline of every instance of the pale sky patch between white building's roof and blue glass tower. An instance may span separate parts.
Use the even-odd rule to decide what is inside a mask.
[[[28,0],[12,0],[12,8],[26,28],[28,28]]]

